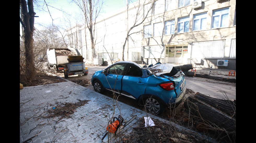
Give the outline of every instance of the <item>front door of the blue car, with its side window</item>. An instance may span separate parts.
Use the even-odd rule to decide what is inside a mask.
[[[107,90],[115,92],[121,91],[121,80],[126,63],[118,63],[110,66],[106,71],[106,77],[103,77],[103,85]]]

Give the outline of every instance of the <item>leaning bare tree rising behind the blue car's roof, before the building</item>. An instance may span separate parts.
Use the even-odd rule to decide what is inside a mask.
[[[147,4],[146,1],[143,1],[144,3],[142,3],[142,4],[141,4],[141,1],[140,1],[140,0],[138,1],[138,7],[135,7],[137,10],[136,10],[136,15],[135,15],[134,23],[133,23],[133,25],[132,25],[130,28],[127,27],[127,33],[126,33],[125,42],[124,42],[124,44],[123,44],[123,51],[122,51],[122,60],[123,60],[123,61],[124,61],[124,50],[125,50],[126,42],[128,42],[128,39],[129,39],[129,37],[130,37],[132,34],[138,33],[138,32],[140,32],[140,31],[136,31],[136,32],[132,32],[132,33],[130,33],[130,32],[132,31],[133,28],[135,28],[135,27],[141,25],[141,24],[145,21],[145,19],[146,19],[146,17],[148,16],[148,14],[149,14],[150,12],[152,12],[152,8],[153,8],[153,6],[154,6],[154,4],[155,4],[155,1],[156,1],[156,0],[151,0],[151,5],[150,5],[150,7],[148,8],[147,11],[144,11],[144,5]],[[129,15],[128,15],[129,2],[130,2],[130,1],[127,0],[127,5],[126,5],[126,6],[127,6],[127,19],[128,19],[128,16],[129,16]],[[141,11],[144,11],[144,17],[141,17],[141,15],[140,15]],[[142,16],[143,16],[143,15],[142,15]],[[128,20],[127,20],[127,21],[128,21]],[[127,25],[128,25],[128,24],[127,24]]]

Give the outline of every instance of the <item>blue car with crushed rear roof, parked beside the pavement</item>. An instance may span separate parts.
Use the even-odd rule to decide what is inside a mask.
[[[92,74],[94,90],[115,92],[144,105],[147,112],[161,114],[165,107],[178,106],[186,92],[184,73],[173,64],[143,68],[134,62],[117,62]]]

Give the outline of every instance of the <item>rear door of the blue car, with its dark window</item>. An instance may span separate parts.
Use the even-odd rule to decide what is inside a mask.
[[[133,64],[127,65],[125,71],[121,84],[121,94],[137,99],[145,93],[147,78],[142,78],[142,69]]]

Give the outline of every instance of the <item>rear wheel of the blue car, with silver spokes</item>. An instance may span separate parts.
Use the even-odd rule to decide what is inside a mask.
[[[148,97],[144,105],[146,107],[147,112],[151,114],[161,114],[164,111],[164,105],[160,103],[158,99],[155,99],[154,97]]]

